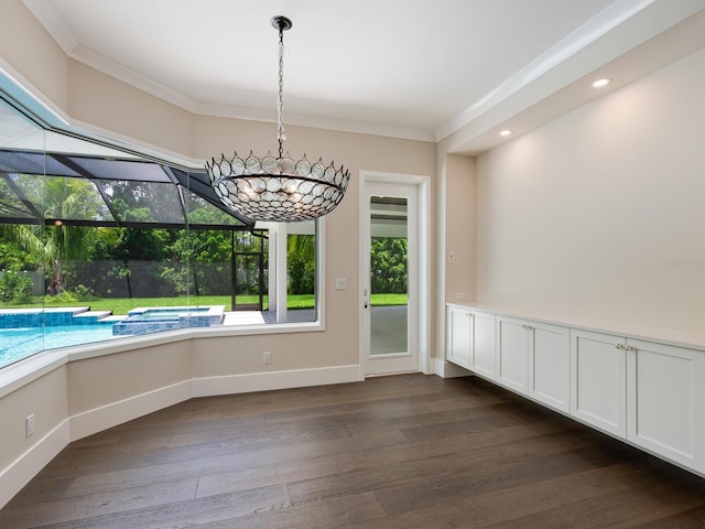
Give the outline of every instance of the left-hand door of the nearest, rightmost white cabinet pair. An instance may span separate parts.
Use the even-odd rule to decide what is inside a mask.
[[[571,414],[620,438],[627,435],[626,339],[571,331]]]

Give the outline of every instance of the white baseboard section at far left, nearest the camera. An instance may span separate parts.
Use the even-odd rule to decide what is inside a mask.
[[[0,472],[0,508],[68,444],[68,419]]]

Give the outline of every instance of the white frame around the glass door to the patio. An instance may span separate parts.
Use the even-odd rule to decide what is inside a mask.
[[[362,256],[362,249],[368,246],[369,231],[366,228],[369,226],[369,218],[367,216],[367,184],[368,183],[383,183],[383,184],[404,184],[414,185],[419,192],[419,302],[417,302],[417,356],[419,356],[419,370],[429,375],[431,366],[431,241],[430,241],[430,206],[431,206],[431,177],[421,176],[414,174],[400,174],[400,173],[386,173],[376,171],[360,171],[360,192],[359,192],[359,212],[360,212],[360,277],[359,277],[359,366],[360,366],[360,379],[365,379],[365,360],[369,355],[369,328],[364,299],[365,289],[369,282],[367,274],[367,267],[364,266],[362,259],[369,259],[369,256]]]

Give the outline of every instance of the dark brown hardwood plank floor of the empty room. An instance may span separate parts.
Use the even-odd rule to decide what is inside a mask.
[[[67,446],[1,528],[692,528],[705,479],[474,378],[193,399]]]

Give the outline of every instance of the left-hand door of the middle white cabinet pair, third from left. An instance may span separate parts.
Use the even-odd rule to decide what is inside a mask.
[[[529,391],[529,358],[527,322],[497,316],[497,381],[527,395]]]

